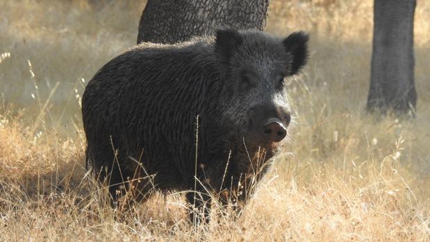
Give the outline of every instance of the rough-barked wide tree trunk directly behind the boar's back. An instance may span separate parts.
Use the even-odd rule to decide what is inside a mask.
[[[263,30],[270,0],[148,0],[140,18],[138,44],[172,44],[216,28]]]

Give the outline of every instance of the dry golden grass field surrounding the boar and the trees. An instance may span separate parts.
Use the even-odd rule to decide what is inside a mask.
[[[240,218],[193,227],[181,193],[113,211],[83,164],[81,94],[135,43],[144,2],[0,1],[0,241],[429,241],[430,1],[417,2],[417,117],[397,120],[364,112],[372,0],[272,0],[266,31],[312,37],[288,86],[291,142]]]

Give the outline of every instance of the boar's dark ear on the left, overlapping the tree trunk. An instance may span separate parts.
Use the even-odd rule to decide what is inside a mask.
[[[229,62],[234,51],[242,44],[240,33],[234,29],[217,30],[215,53],[222,62]]]

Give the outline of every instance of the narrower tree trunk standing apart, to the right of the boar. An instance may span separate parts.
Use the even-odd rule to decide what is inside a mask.
[[[367,110],[414,114],[415,0],[374,0],[372,70]]]

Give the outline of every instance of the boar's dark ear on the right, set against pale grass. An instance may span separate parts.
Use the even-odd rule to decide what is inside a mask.
[[[308,41],[309,35],[303,31],[292,33],[282,41],[286,51],[292,56],[290,75],[296,74],[306,64]]]

